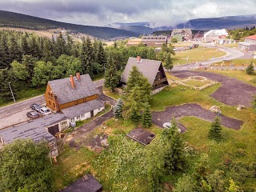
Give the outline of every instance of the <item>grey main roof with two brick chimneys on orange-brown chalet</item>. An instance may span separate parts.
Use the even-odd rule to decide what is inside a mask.
[[[50,87],[57,95],[59,104],[72,102],[80,98],[98,94],[98,90],[94,86],[89,74],[80,75],[81,81],[74,77],[74,89],[70,84],[70,78],[61,78],[50,81]]]

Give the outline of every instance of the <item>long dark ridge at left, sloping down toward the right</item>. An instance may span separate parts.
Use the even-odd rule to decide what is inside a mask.
[[[64,28],[82,34],[89,34],[95,38],[116,39],[138,37],[139,33],[130,30],[119,30],[101,26],[82,26],[66,22],[56,22],[46,18],[33,17],[26,14],[0,10],[0,26],[18,27],[30,30],[49,30]]]

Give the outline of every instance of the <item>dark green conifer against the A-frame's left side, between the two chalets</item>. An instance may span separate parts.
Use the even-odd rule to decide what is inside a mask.
[[[110,88],[110,90],[114,92],[114,89],[118,86],[119,81],[120,75],[118,74],[117,67],[114,65],[112,58],[109,57],[107,61],[104,86],[106,86],[106,88]]]

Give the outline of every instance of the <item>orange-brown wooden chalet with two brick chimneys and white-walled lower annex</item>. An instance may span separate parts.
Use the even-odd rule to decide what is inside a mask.
[[[105,107],[89,74],[50,81],[46,87],[46,106],[62,111],[71,122],[93,117]]]

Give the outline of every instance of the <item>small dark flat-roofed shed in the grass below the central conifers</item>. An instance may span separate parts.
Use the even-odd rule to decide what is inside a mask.
[[[130,131],[130,133],[127,134],[127,137],[132,138],[136,142],[139,142],[142,145],[146,146],[150,144],[150,142],[155,138],[155,134],[152,134],[147,130],[143,130],[142,128],[137,128]]]

